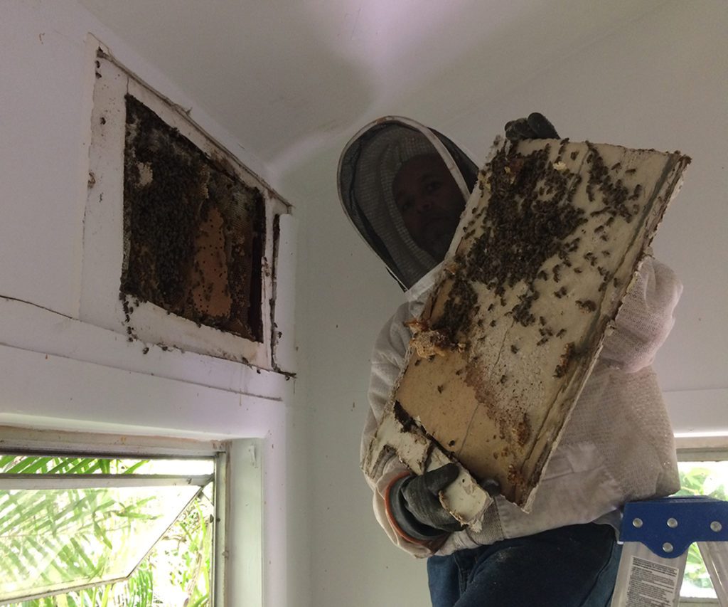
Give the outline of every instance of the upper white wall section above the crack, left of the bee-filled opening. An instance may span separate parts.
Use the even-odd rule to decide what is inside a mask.
[[[0,295],[77,316],[94,63],[89,32],[263,179],[266,167],[74,0],[3,3]],[[23,226],[23,229],[18,229]]]

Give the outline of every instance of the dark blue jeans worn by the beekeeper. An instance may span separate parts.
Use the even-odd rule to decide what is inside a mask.
[[[621,552],[591,523],[430,557],[432,607],[608,606]]]

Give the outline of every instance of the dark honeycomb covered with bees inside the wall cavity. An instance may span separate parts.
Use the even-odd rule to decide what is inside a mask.
[[[126,95],[122,296],[261,342],[264,197]]]

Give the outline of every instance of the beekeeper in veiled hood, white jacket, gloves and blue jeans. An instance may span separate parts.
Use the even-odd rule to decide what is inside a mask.
[[[509,122],[506,136],[558,137],[541,114]],[[365,126],[341,154],[344,211],[406,299],[374,346],[362,461],[403,367],[411,337],[405,321],[422,310],[477,175],[478,166],[450,139],[402,117]],[[608,603],[620,506],[678,490],[673,433],[650,365],[673,326],[681,289],[668,267],[644,260],[530,514],[496,496],[482,530],[462,528],[437,497],[456,477],[454,464],[418,477],[391,455],[367,477],[389,539],[428,557],[433,606]]]

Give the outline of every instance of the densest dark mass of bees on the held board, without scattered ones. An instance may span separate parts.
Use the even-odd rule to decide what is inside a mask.
[[[562,146],[566,144],[563,140]],[[523,155],[502,149],[491,162],[486,177],[491,192],[490,202],[482,215],[476,214],[465,227],[466,235],[480,222],[482,233],[472,241],[463,260],[456,258],[450,297],[438,318],[436,328],[450,335],[467,335],[478,311],[478,297],[472,283],[482,283],[499,296],[501,305],[506,289],[526,281],[526,292],[508,310],[514,321],[529,326],[536,316],[531,306],[539,298],[537,281],[546,281],[549,274],[542,269],[545,261],[558,254],[570,265],[569,253],[579,239],[569,240],[577,228],[587,222],[585,212],[571,205],[577,191],[578,178],[568,171],[559,171],[549,160],[550,146]],[[559,280],[559,266],[553,278]]]

